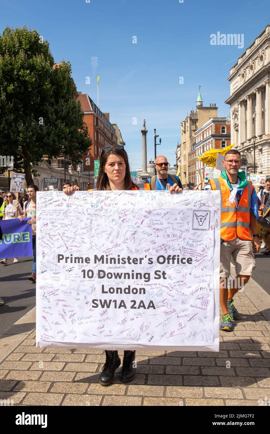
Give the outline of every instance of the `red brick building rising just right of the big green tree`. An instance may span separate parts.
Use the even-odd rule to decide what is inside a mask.
[[[94,160],[98,160],[105,146],[117,145],[115,128],[110,122],[110,113],[102,113],[98,106],[87,94],[76,94],[84,112],[84,121],[88,126],[88,133],[93,141],[90,152],[90,176],[94,175]],[[86,164],[87,155],[82,156],[82,171],[88,174],[89,166]]]

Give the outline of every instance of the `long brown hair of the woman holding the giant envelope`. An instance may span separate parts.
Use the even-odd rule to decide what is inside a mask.
[[[123,158],[124,162],[126,163],[124,190],[133,190],[133,189],[137,190],[138,189],[137,185],[134,184],[134,182],[131,179],[127,152],[124,149],[122,150],[122,149],[114,149],[114,148],[101,152],[100,166],[99,166],[98,180],[97,180],[97,190],[111,190],[107,173],[104,172],[104,166],[106,164],[109,155],[118,155],[119,157]]]

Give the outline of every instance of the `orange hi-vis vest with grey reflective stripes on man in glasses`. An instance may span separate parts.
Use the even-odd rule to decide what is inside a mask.
[[[247,181],[247,187],[243,189],[237,207],[229,201],[231,191],[224,178],[220,176],[219,178],[211,179],[210,184],[212,190],[220,191],[221,195],[221,238],[225,241],[234,240],[236,237],[241,240],[252,240],[249,229],[250,200],[253,192],[251,182]]]

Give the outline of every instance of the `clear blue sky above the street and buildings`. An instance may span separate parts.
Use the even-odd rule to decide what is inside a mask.
[[[154,158],[156,128],[157,155],[175,164],[180,122],[195,109],[198,85],[204,105],[214,102],[219,116],[229,115],[229,70],[270,23],[268,15],[269,0],[0,0],[0,31],[35,28],[55,62],[71,62],[77,90],[96,103],[99,71],[100,109],[119,126],[135,169],[142,166],[144,118],[147,161]],[[243,33],[244,47],[212,46],[210,35],[218,31]]]

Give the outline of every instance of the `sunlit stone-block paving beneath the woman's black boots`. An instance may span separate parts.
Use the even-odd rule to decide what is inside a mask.
[[[36,348],[33,309],[1,335],[0,399],[18,406],[262,405],[270,400],[269,310],[258,311],[248,285],[235,296],[241,320],[234,332],[220,332],[219,352],[137,351],[137,375],[127,385],[120,368],[114,384],[99,385],[102,350]]]

